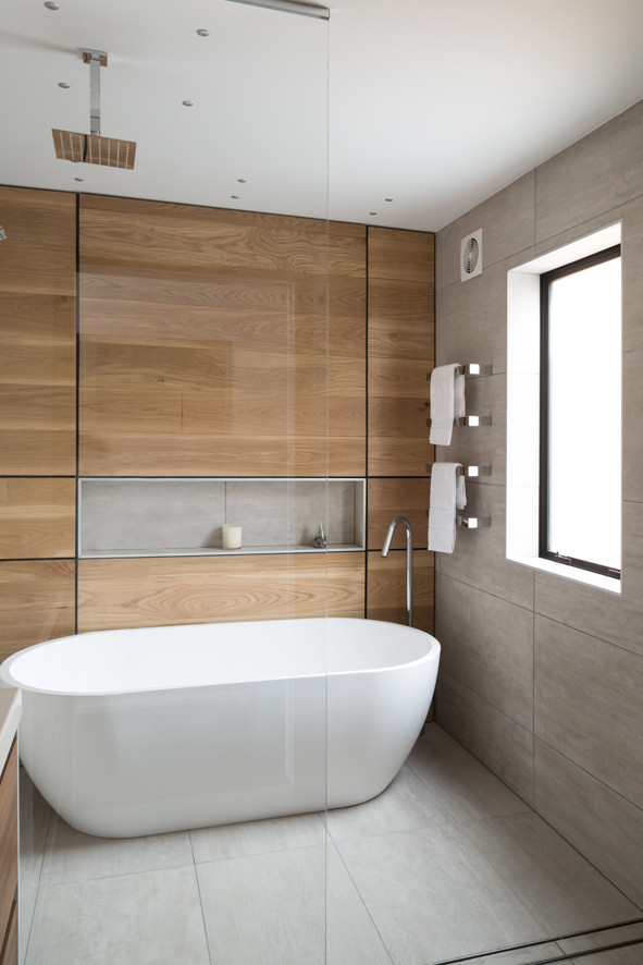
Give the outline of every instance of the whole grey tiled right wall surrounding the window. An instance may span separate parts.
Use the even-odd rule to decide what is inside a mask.
[[[623,594],[505,559],[507,270],[622,219]],[[483,229],[483,272],[459,280],[460,240]],[[436,554],[436,716],[619,888],[643,905],[643,101],[443,229],[436,237],[436,365],[493,363],[454,430],[489,530]],[[469,391],[469,386],[471,390]],[[599,401],[586,400],[591,406]],[[599,468],[599,440],[596,447]],[[582,479],[580,480],[582,482]]]

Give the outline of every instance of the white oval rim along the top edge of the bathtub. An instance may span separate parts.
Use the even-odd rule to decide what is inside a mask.
[[[247,625],[247,624],[252,624],[252,623],[254,624],[262,624],[262,623],[279,624],[280,622],[284,622],[284,623],[287,622],[290,624],[290,623],[297,622],[298,620],[308,620],[308,621],[314,620],[314,621],[323,622],[325,625],[327,625],[329,622],[333,622],[333,621],[342,622],[343,624],[346,624],[346,623],[354,623],[354,624],[359,623],[360,625],[363,625],[366,623],[375,623],[375,624],[380,624],[380,625],[383,624],[386,626],[394,627],[396,633],[397,632],[400,632],[403,634],[411,633],[413,635],[422,636],[423,638],[425,638],[428,640],[428,649],[420,657],[417,657],[413,660],[407,660],[403,663],[393,663],[393,664],[389,663],[389,664],[385,664],[385,665],[369,667],[369,668],[353,668],[353,669],[348,669],[348,670],[333,670],[333,671],[325,670],[325,671],[319,672],[319,673],[288,674],[287,676],[283,675],[283,674],[276,674],[274,676],[261,677],[259,681],[250,680],[250,681],[239,682],[238,680],[228,680],[228,681],[217,680],[217,681],[211,681],[208,683],[199,683],[199,684],[194,684],[194,685],[185,684],[185,683],[177,683],[174,686],[162,685],[162,686],[146,686],[146,687],[140,687],[140,686],[122,687],[119,689],[102,689],[102,691],[101,689],[63,691],[63,689],[51,689],[48,687],[37,687],[37,686],[33,686],[30,684],[25,684],[13,675],[13,671],[12,671],[13,664],[21,657],[24,657],[25,655],[30,653],[37,649],[41,649],[44,647],[55,646],[57,644],[60,644],[61,642],[76,639],[77,637],[86,637],[86,636],[96,637],[96,636],[102,636],[106,634],[126,634],[126,633],[133,633],[133,632],[135,633],[136,631],[139,631],[139,630],[149,630],[150,632],[152,632],[154,630],[181,631],[183,628],[190,627],[190,626],[217,626],[220,624],[203,622],[203,623],[186,623],[186,624],[163,624],[162,626],[152,626],[152,627],[121,627],[119,630],[99,630],[99,631],[87,631],[86,633],[66,634],[63,637],[53,637],[50,640],[42,640],[39,644],[33,644],[29,647],[24,647],[23,649],[17,650],[15,653],[12,653],[4,661],[2,661],[2,663],[0,663],[0,687],[20,687],[20,689],[25,693],[41,694],[44,696],[49,696],[49,697],[65,697],[65,698],[76,697],[76,698],[90,699],[94,697],[120,697],[120,696],[122,697],[122,696],[125,696],[128,694],[144,694],[144,693],[162,694],[165,692],[173,693],[173,692],[177,692],[177,691],[182,691],[182,689],[235,686],[235,685],[238,685],[239,683],[248,683],[248,684],[250,684],[250,683],[277,683],[277,682],[296,681],[296,680],[316,680],[316,679],[317,680],[323,680],[323,679],[329,680],[332,677],[350,676],[351,674],[369,674],[369,675],[370,674],[378,674],[378,673],[383,674],[383,673],[391,673],[391,672],[396,672],[396,671],[400,672],[400,671],[408,670],[412,667],[419,667],[423,663],[429,663],[433,660],[440,660],[442,648],[441,648],[440,642],[436,639],[436,637],[433,636],[433,634],[430,634],[423,630],[419,630],[418,627],[415,627],[415,626],[407,626],[406,624],[401,624],[401,623],[392,623],[388,620],[372,620],[370,618],[359,618],[359,616],[312,616],[312,618],[308,616],[308,618],[293,618],[290,620],[283,620],[283,621],[281,621],[281,620],[265,620],[265,621],[248,620],[248,621],[222,621],[221,623],[224,623],[225,625],[235,625],[235,624]]]

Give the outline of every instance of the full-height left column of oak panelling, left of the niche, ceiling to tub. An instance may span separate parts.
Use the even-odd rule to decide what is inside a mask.
[[[74,631],[76,200],[0,187],[0,211],[3,659]]]

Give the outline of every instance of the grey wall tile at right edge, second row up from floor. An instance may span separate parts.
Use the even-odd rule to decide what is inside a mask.
[[[643,656],[535,620],[534,733],[643,807]]]

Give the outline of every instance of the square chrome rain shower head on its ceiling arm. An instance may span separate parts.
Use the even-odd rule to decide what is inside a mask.
[[[89,64],[89,130],[90,134],[61,131],[53,127],[55,157],[73,163],[100,164],[107,168],[134,169],[135,141],[103,137],[100,133],[100,69],[108,65],[104,50],[84,50],[83,62]]]

